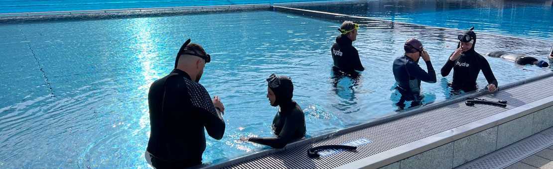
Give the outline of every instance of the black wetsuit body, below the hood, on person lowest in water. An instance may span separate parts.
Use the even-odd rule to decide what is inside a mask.
[[[276,113],[272,125],[276,137],[249,138],[248,141],[281,149],[286,144],[305,136],[305,117],[300,106],[294,101],[284,106],[280,104],[280,111]]]

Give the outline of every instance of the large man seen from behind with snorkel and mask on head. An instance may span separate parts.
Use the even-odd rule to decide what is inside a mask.
[[[151,133],[145,158],[155,168],[200,165],[206,148],[204,128],[217,140],[225,133],[225,107],[198,83],[211,56],[189,43],[190,39],[180,48],[175,69],[156,80],[148,93]]]

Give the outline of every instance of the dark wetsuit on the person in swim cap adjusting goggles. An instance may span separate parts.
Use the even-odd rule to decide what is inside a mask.
[[[426,61],[428,72],[424,71],[417,61],[413,61],[409,56],[401,56],[394,60],[392,70],[395,81],[398,83],[398,91],[401,93],[401,99],[413,101],[420,95],[420,81],[427,83],[436,83],[436,72],[432,63]]]

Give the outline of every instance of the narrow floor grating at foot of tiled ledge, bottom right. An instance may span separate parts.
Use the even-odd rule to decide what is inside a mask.
[[[456,169],[505,168],[553,145],[553,128],[541,131],[513,145],[503,147]]]

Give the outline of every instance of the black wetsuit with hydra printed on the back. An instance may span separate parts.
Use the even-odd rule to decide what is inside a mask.
[[[359,52],[352,46],[353,41],[346,35],[338,35],[332,45],[332,60],[334,66],[343,72],[363,71],[365,68],[359,59]]]

